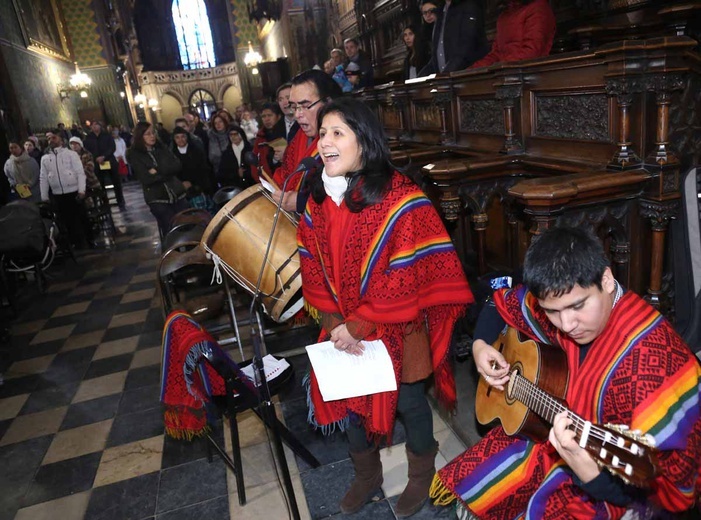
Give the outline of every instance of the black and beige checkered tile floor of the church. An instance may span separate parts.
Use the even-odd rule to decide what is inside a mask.
[[[164,437],[157,231],[138,185],[127,184],[125,197],[112,249],[79,255],[79,265],[57,262],[45,295],[21,287],[21,314],[0,351],[0,520],[287,518],[265,430],[250,412],[238,421],[244,507],[231,472],[207,462],[202,442]],[[306,360],[292,361],[301,374]],[[323,464],[311,470],[288,452],[303,518],[337,516],[352,478],[345,439],[307,427],[298,384],[278,407]],[[434,421],[444,464],[464,447],[438,414]],[[221,425],[215,432],[228,441]],[[384,495],[353,518],[395,518],[406,481],[400,426],[395,442],[383,450]],[[415,518],[450,514],[426,505]]]

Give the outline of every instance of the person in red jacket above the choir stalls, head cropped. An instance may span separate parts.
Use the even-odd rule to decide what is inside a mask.
[[[497,35],[492,50],[473,63],[471,69],[540,58],[550,53],[556,27],[548,0],[503,0],[498,9]]]

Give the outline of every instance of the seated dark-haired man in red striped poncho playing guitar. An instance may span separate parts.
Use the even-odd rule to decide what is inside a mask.
[[[571,412],[553,415],[547,442],[493,428],[438,472],[435,503],[457,499],[460,518],[495,520],[616,519],[636,501],[673,512],[695,507],[701,482],[696,357],[657,310],[614,279],[593,234],[548,230],[534,238],[523,269],[524,284],[497,290],[480,315],[473,355],[489,385],[481,386],[503,398],[518,378],[513,361],[490,345],[506,324],[564,352]],[[576,433],[579,423],[586,435]],[[585,449],[590,429],[601,432],[597,425],[604,424],[652,440],[656,471],[643,488],[624,482],[635,482],[628,470],[616,472],[619,478],[602,469],[610,458],[608,433],[599,435],[601,453]]]

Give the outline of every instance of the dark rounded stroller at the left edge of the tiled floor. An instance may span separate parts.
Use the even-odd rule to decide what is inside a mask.
[[[58,226],[50,211],[26,200],[0,208],[0,268],[5,286],[7,273],[33,272],[39,290],[46,285],[44,271],[56,255]]]

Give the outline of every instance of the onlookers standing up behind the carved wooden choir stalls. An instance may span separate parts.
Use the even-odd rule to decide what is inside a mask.
[[[497,31],[490,45],[479,0],[420,0],[421,24],[402,28],[406,46],[402,79],[446,74],[547,56],[555,38],[548,0],[499,0]],[[323,70],[343,92],[374,84],[370,56],[357,38],[332,49]]]

